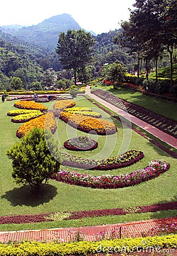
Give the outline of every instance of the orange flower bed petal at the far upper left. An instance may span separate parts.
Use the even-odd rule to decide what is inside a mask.
[[[17,101],[14,103],[14,106],[19,109],[36,109],[40,110],[41,112],[45,112],[48,109],[43,104],[36,103],[33,101]]]

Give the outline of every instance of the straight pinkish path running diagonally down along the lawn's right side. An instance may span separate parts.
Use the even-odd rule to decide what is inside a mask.
[[[177,148],[177,139],[172,137],[171,135],[157,129],[156,127],[150,125],[149,123],[146,123],[142,121],[141,119],[138,119],[137,117],[134,117],[131,114],[128,114],[124,110],[121,110],[117,108],[116,106],[113,106],[107,101],[102,100],[98,96],[92,94],[90,92],[90,86],[86,87],[86,95],[90,98],[93,98],[94,100],[98,101],[100,104],[106,106],[107,108],[111,109],[112,111],[116,112],[118,115],[121,115],[121,117],[124,117],[125,119],[128,119],[130,122],[134,123],[135,125],[141,127],[142,129],[146,130],[148,133],[153,134],[155,137],[161,139],[161,141],[166,142],[170,146]]]

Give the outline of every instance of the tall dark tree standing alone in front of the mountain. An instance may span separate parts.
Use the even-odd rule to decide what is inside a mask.
[[[90,32],[84,30],[68,30],[61,32],[58,39],[56,53],[65,69],[73,69],[74,84],[77,82],[78,68],[85,68],[92,57],[92,47],[95,42]]]

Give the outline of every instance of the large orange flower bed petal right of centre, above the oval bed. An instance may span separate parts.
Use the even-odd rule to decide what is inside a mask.
[[[98,119],[93,117],[86,117],[85,115],[71,114],[68,112],[62,112],[60,119],[69,123],[74,128],[89,133],[96,131],[99,135],[107,135],[116,133],[116,126],[104,119]]]

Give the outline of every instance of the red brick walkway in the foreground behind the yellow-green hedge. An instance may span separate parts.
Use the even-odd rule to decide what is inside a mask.
[[[9,241],[53,241],[69,242],[76,241],[77,234],[86,241],[96,241],[100,238],[120,238],[121,237],[141,237],[163,222],[164,228],[171,224],[177,224],[177,217],[134,221],[123,224],[103,225],[103,226],[86,226],[82,228],[61,228],[61,229],[46,229],[46,230],[21,230],[16,232],[0,232],[0,242]],[[121,229],[121,230],[120,230]]]

